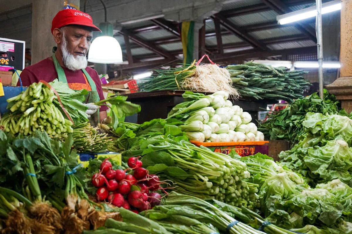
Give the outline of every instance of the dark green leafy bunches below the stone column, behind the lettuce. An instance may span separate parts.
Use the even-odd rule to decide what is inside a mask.
[[[304,134],[302,122],[308,112],[347,115],[344,110],[339,112],[339,102],[334,95],[324,89],[323,99],[313,93],[302,99],[295,100],[287,108],[268,114],[268,119],[261,123],[258,131],[265,135],[265,139],[288,140],[297,143]]]

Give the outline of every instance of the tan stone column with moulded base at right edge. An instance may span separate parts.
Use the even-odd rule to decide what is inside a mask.
[[[341,101],[347,113],[352,111],[352,0],[341,0],[340,78],[325,86]]]

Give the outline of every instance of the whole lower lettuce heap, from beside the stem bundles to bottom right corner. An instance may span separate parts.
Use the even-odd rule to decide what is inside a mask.
[[[339,179],[310,188],[306,178],[266,155],[242,157],[241,161],[251,173],[247,180],[259,184],[261,212],[267,221],[298,232],[352,232],[352,188]]]

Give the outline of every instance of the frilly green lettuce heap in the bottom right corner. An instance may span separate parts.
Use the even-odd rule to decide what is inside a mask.
[[[351,228],[348,228],[352,225],[351,189],[338,179],[327,184],[319,184],[314,189],[303,190],[302,193],[293,194],[288,199],[278,199],[274,203],[275,209],[266,220],[284,228],[315,225],[326,229],[327,233],[336,233],[332,230],[338,229],[343,223],[345,229],[351,231]]]

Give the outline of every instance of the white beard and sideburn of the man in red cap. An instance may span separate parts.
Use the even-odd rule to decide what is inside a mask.
[[[76,57],[67,50],[67,40],[63,35],[63,42],[61,44],[62,60],[68,69],[77,71],[88,66],[86,56],[77,55]]]

